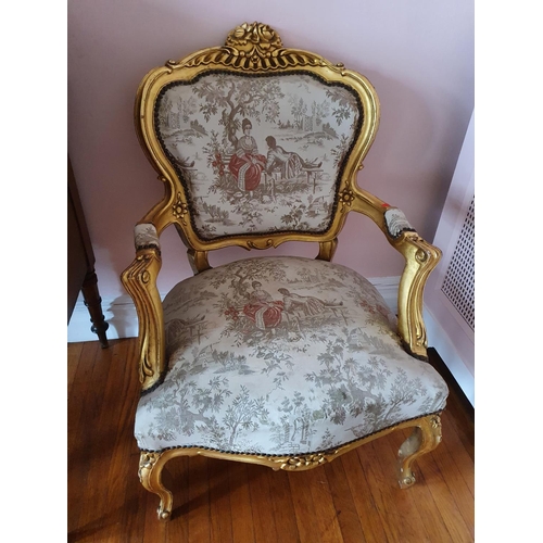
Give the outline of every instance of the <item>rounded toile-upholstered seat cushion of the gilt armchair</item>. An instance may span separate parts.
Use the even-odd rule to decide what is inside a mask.
[[[140,399],[141,450],[314,453],[445,406],[442,378],[344,266],[247,258],[181,281],[163,306],[168,370]]]

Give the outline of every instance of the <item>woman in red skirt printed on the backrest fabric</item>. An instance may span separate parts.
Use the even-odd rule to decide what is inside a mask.
[[[241,122],[243,136],[238,140],[236,153],[230,159],[228,167],[238,181],[241,190],[251,193],[261,182],[261,174],[266,165],[266,157],[258,154],[256,140],[251,136],[251,121],[244,118]]]

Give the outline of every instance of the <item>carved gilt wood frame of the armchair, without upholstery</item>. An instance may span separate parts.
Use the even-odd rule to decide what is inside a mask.
[[[353,151],[342,171],[337,193],[337,213],[327,231],[320,233],[272,232],[261,237],[248,233],[215,240],[202,240],[194,232],[189,220],[190,206],[184,186],[156,137],[154,105],[161,89],[172,81],[190,81],[200,74],[218,70],[237,74],[279,74],[303,71],[327,81],[341,83],[355,90],[364,110],[364,119]],[[222,47],[203,49],[179,61],[167,61],[164,66],[147,74],[137,92],[136,131],[143,151],[163,182],[164,197],[139,223],[140,226],[148,225],[155,232],[156,240],[153,243],[137,247],[135,261],[122,275],[123,285],[132,296],[138,313],[139,378],[142,391],[149,391],[160,384],[167,365],[163,310],[156,278],[162,264],[159,238],[169,225],[175,225],[188,248],[188,256],[194,273],[200,273],[210,268],[209,251],[228,245],[239,245],[251,250],[275,248],[286,241],[315,241],[319,244],[317,258],[330,261],[337,247],[337,237],[348,213],[354,211],[370,217],[389,243],[405,258],[397,304],[400,337],[409,353],[421,359],[427,358],[422,293],[428,275],[438,264],[441,252],[425,241],[408,225],[392,235],[386,213],[394,207],[361,189],[356,184],[357,172],[363,168],[363,160],[376,137],[379,111],[377,94],[364,76],[345,68],[343,64],[331,64],[315,53],[283,48],[277,33],[260,23],[245,23],[235,28]],[[304,457],[238,455],[203,449],[141,452],[139,475],[143,485],[161,497],[159,517],[166,519],[172,512],[172,494],[162,485],[161,472],[164,464],[175,456],[204,455],[267,465],[273,469],[301,470],[329,462],[396,429],[409,427],[414,427],[415,430],[399,452],[399,481],[401,487],[407,487],[415,480],[411,469],[412,462],[420,454],[435,447],[441,440],[439,415],[408,420],[337,450]]]

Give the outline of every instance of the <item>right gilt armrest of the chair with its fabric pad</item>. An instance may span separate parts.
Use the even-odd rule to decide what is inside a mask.
[[[415,357],[428,359],[428,338],[422,319],[424,289],[441,251],[425,241],[405,215],[369,192],[356,189],[352,210],[370,217],[384,232],[389,243],[405,258],[397,291],[397,332],[404,348]]]

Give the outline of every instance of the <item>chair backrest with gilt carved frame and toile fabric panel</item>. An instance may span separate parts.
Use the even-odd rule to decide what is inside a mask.
[[[142,223],[175,224],[195,252],[265,249],[336,240],[379,102],[364,76],[245,23],[151,71],[135,117],[165,184]]]

